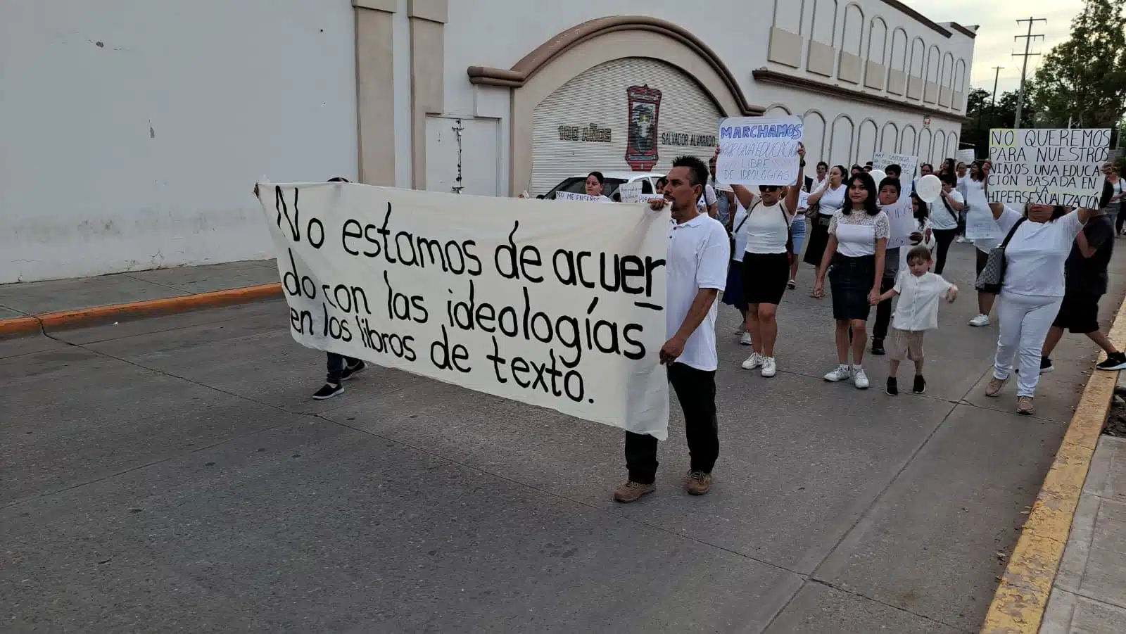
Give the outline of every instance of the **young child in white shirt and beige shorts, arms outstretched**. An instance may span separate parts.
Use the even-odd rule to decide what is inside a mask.
[[[922,336],[938,328],[938,301],[954,302],[958,287],[930,273],[930,249],[920,244],[908,252],[908,270],[900,270],[895,286],[881,295],[874,304],[899,296],[895,304],[895,321],[892,325],[891,366],[887,370],[887,394],[900,393],[896,374],[900,361],[910,359],[915,364],[915,379],[911,391],[927,392],[927,379],[922,376]]]

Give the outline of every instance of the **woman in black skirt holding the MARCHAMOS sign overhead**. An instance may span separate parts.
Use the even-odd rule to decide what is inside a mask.
[[[751,333],[753,351],[743,361],[743,369],[762,368],[762,376],[777,374],[774,347],[778,339],[775,316],[778,304],[786,294],[789,261],[794,257],[790,241],[790,221],[797,208],[802,182],[805,180],[805,146],[797,144],[801,161],[797,182],[760,185],[759,202],[741,185],[732,185],[740,204],[748,208],[743,224],[747,251],[743,253],[743,298],[747,301],[747,331]]]

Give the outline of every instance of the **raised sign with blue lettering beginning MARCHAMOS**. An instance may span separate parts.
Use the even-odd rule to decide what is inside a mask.
[[[805,125],[801,117],[731,117],[720,120],[716,181],[725,185],[794,185],[797,145]]]

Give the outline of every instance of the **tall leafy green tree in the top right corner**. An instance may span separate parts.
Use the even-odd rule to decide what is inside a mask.
[[[1126,0],[1087,0],[1029,91],[1039,125],[1117,128],[1126,114]],[[1024,118],[1024,117],[1021,117]]]

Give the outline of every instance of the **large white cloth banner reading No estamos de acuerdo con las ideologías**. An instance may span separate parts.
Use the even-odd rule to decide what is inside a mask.
[[[298,343],[667,437],[668,212],[336,182],[260,202]]]

